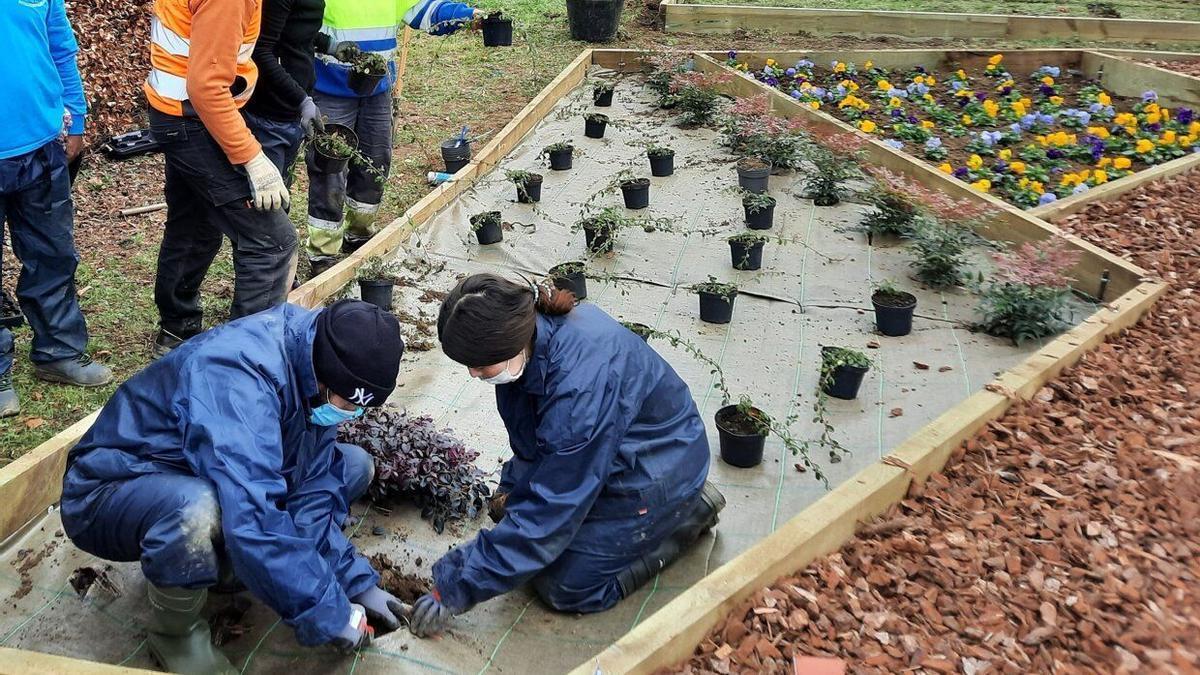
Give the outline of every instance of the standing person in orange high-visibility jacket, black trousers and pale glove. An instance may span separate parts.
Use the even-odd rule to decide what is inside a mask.
[[[282,303],[292,286],[288,189],[241,113],[258,82],[260,17],[262,0],[154,2],[143,89],[167,160],[155,357],[202,330],[200,282],[223,237],[233,243],[230,319]]]

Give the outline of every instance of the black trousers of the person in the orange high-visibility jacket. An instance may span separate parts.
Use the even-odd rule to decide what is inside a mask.
[[[224,237],[233,244],[229,319],[283,303],[296,247],[287,213],[251,207],[250,179],[199,119],[151,109],[150,132],[167,159],[167,226],[154,288],[161,327],[180,338],[200,331],[200,283]]]

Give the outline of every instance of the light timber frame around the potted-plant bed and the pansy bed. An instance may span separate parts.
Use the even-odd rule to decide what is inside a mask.
[[[899,66],[929,61],[930,59],[954,59],[959,62],[985,60],[994,52],[931,52],[931,50],[880,50],[880,52],[781,52],[743,53],[750,60],[774,58],[781,62],[808,55],[816,59],[840,59],[862,61],[874,59],[883,66]],[[1006,64],[1043,62],[1072,64],[1088,72],[1100,72],[1105,86],[1116,94],[1136,90],[1138,94],[1153,82],[1159,95],[1174,102],[1200,107],[1200,79],[1170,73],[1160,68],[1134,64],[1123,58],[1099,52],[1050,49],[1003,52]],[[1134,53],[1136,58],[1157,58],[1153,53]],[[354,279],[362,262],[371,256],[385,255],[408,241],[409,237],[455,197],[469,189],[484,174],[494,168],[553,106],[569,91],[580,85],[592,65],[624,72],[642,68],[644,52],[623,49],[587,49],[559,73],[545,89],[517,114],[496,137],[480,149],[476,157],[445,183],[414,204],[401,217],[392,221],[365,246],[332,267],[320,276],[296,288],[289,301],[314,307]],[[721,53],[695,53],[695,64],[702,71],[730,71],[716,59]],[[1166,56],[1170,60],[1170,56]],[[1126,78],[1135,79],[1134,82]],[[736,77],[725,85],[725,94],[744,96],[770,92],[772,109],[782,117],[808,117],[830,130],[850,130],[844,123],[826,113],[798,104],[779,91],[745,77]],[[1174,104],[1174,103],[1172,103]],[[887,458],[869,466],[839,485],[820,501],[808,507],[773,534],[763,538],[737,558],[720,567],[666,607],[649,616],[620,640],[604,650],[575,670],[578,675],[593,675],[596,668],[605,673],[652,673],[658,668],[686,658],[695,645],[730,610],[757,589],[770,584],[814,558],[840,548],[853,534],[856,527],[878,515],[904,497],[912,480],[924,480],[944,466],[950,453],[965,440],[973,436],[984,424],[1003,414],[1013,401],[1030,399],[1049,380],[1079,360],[1088,350],[1116,331],[1133,325],[1166,285],[1148,279],[1146,271],[1120,257],[1093,246],[1076,237],[1058,232],[1050,222],[1075,213],[1087,203],[1110,199],[1136,186],[1178,173],[1196,166],[1200,155],[1183,157],[1121,180],[1103,189],[1092,190],[1080,199],[1063,199],[1054,208],[1022,211],[995,197],[970,189],[932,166],[871,142],[869,161],[906,174],[928,186],[956,197],[984,199],[998,213],[985,228],[994,239],[1013,243],[1040,240],[1062,235],[1082,253],[1073,270],[1078,287],[1096,293],[1100,277],[1109,276],[1106,305],[1072,330],[1060,335],[1025,362],[1009,369],[991,384],[941,417],[922,428]],[[1187,161],[1184,161],[1187,160]],[[95,422],[97,412],[80,419],[59,435],[30,450],[8,466],[0,468],[0,542],[25,530],[46,509],[58,502],[66,454],[84,431]],[[102,665],[92,662],[43,655],[38,652],[0,649],[0,671],[23,673],[144,673],[140,670]]]

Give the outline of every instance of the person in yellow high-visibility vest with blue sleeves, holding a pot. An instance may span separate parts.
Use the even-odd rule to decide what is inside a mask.
[[[396,36],[408,24],[431,35],[449,35],[484,12],[448,0],[325,0],[322,35],[317,38],[317,84],[313,100],[326,123],[354,130],[359,153],[370,166],[350,162],[341,173],[313,167],[308,149],[308,239],[305,250],[313,275],[326,269],[347,249],[356,249],[377,231],[383,186],[391,167],[391,89],[396,83]],[[346,62],[356,52],[378,54],[388,74],[366,94],[350,86]],[[342,221],[343,210],[346,221]]]

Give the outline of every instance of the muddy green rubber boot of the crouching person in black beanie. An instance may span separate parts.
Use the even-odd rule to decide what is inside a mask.
[[[204,589],[160,589],[146,584],[151,625],[146,627],[150,655],[170,673],[233,674],[238,670],[212,646],[209,623],[200,617],[209,592]]]

